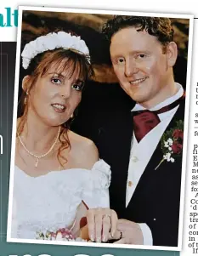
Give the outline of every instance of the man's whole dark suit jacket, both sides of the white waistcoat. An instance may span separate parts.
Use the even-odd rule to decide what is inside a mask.
[[[92,139],[98,146],[100,158],[110,164],[110,208],[116,210],[119,219],[146,223],[156,246],[177,247],[182,156],[175,162],[163,162],[155,170],[163,156],[159,143],[126,208],[127,170],[133,136],[131,106],[97,111],[91,121],[90,117],[86,120],[87,111],[87,116],[82,115],[72,128]],[[184,120],[184,101],[167,130],[174,128],[180,119]],[[82,125],[82,120],[87,125]]]

